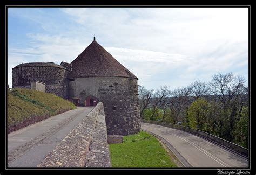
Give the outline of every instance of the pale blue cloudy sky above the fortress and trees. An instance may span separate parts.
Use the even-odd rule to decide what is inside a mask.
[[[248,85],[248,8],[8,8],[8,84],[25,62],[72,62],[93,41],[158,89],[209,82]]]

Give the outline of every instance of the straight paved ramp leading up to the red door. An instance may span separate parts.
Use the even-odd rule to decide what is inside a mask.
[[[8,134],[8,167],[36,167],[92,109],[78,107]]]

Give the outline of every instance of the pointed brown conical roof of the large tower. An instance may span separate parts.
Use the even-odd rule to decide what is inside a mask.
[[[129,77],[130,74],[138,79],[95,40],[71,64],[72,71],[69,74],[69,78],[89,76]]]

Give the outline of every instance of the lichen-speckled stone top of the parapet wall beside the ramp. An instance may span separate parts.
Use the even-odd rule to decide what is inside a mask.
[[[37,167],[84,167],[100,108],[103,108],[102,102]]]

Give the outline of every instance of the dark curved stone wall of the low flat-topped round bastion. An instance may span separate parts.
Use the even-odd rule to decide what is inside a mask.
[[[46,84],[45,92],[68,98],[68,69],[48,66],[25,66],[12,69],[12,87],[30,86],[32,81]]]

